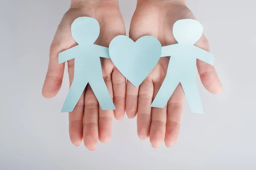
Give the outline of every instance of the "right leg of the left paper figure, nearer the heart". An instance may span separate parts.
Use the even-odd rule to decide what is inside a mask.
[[[102,110],[116,110],[103,78],[89,81]]]

